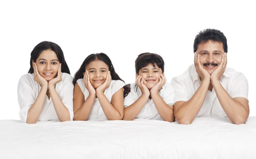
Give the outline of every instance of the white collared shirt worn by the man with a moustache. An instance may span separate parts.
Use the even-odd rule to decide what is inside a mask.
[[[230,97],[248,99],[248,82],[244,74],[226,67],[224,74],[220,78],[220,83]],[[195,70],[195,65],[190,65],[183,74],[172,79],[172,87],[175,89],[174,102],[191,99],[200,84],[201,80]],[[197,114],[198,116],[227,117],[218,101],[214,88],[212,88],[212,91],[207,91],[202,108]]]

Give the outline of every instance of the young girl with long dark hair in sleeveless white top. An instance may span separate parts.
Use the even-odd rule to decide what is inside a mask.
[[[124,96],[129,87],[116,74],[106,54],[90,54],[76,72],[73,83],[74,120],[123,118]]]

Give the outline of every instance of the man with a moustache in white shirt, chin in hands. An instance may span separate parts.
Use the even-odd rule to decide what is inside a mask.
[[[228,117],[234,124],[249,116],[248,82],[227,65],[227,38],[216,29],[201,31],[194,41],[194,65],[172,79],[174,114],[180,124],[195,117]]]

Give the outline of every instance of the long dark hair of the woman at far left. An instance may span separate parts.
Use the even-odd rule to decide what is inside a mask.
[[[34,73],[34,68],[32,65],[32,60],[34,60],[34,62],[36,61],[36,59],[39,57],[39,55],[44,51],[44,50],[52,50],[55,52],[55,54],[58,57],[58,61],[61,63],[61,72],[70,74],[70,70],[67,66],[67,63],[65,61],[64,58],[64,54],[63,51],[61,50],[61,47],[55,43],[49,42],[49,41],[43,41],[41,43],[39,43],[38,45],[35,46],[35,48],[32,50],[31,54],[30,54],[30,68],[29,68],[29,72],[30,74]]]

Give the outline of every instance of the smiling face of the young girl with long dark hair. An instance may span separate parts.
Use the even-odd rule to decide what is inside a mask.
[[[90,83],[93,85],[93,88],[96,89],[105,82],[108,74],[108,69],[108,65],[100,60],[90,62],[85,67],[85,70],[88,71]]]

